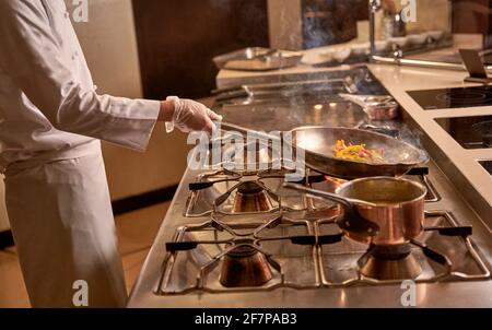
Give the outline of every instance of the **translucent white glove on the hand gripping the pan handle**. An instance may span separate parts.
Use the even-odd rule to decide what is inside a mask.
[[[173,121],[166,122],[167,132],[177,127],[181,132],[206,131],[212,133],[215,129],[213,121],[221,121],[219,116],[201,103],[191,99],[180,99],[176,96],[167,97],[174,103]]]

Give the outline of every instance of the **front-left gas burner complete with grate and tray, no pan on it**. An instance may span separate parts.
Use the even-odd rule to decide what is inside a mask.
[[[317,237],[309,222],[296,220],[303,212],[292,215],[261,213],[251,222],[247,214],[213,213],[207,223],[180,227],[166,244],[169,268],[159,283],[160,293],[303,287],[318,281],[313,246],[340,241],[343,234]],[[187,271],[179,272],[184,264]]]

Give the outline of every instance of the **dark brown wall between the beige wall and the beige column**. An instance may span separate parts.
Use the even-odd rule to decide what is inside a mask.
[[[133,0],[147,97],[206,97],[215,87],[212,58],[268,47],[267,0]]]

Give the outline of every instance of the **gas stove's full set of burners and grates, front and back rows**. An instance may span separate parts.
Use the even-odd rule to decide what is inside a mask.
[[[214,164],[220,168],[200,173],[188,184],[184,216],[189,222],[165,244],[157,295],[489,278],[469,238],[472,227],[459,225],[452,212],[427,211],[423,234],[408,244],[360,244],[338,227],[336,203],[284,189],[290,169],[268,168],[279,160],[266,150],[260,149],[256,160],[251,167],[243,158],[242,167],[249,169],[236,172]],[[415,168],[406,178],[425,185],[427,204],[441,200],[429,168]],[[307,170],[297,184],[333,192],[343,182]]]

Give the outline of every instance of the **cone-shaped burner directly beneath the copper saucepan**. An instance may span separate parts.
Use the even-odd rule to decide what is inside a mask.
[[[410,244],[372,246],[358,263],[361,274],[379,281],[417,279],[422,273]]]

